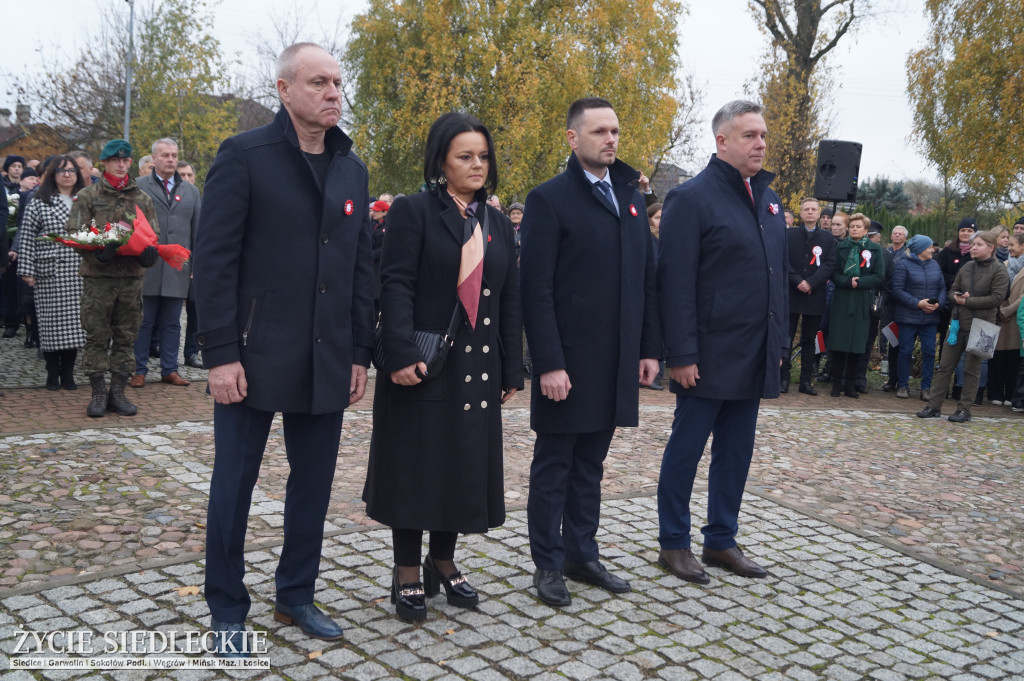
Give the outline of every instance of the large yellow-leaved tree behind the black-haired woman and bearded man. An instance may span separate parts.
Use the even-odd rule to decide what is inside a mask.
[[[679,0],[370,0],[344,70],[371,189],[415,190],[430,124],[461,110],[495,136],[502,198],[521,200],[560,171],[565,112],[589,95],[614,104],[620,155],[651,174],[689,141],[682,11]]]

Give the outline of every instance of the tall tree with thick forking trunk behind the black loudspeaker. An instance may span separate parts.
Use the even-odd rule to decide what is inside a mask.
[[[765,166],[786,205],[813,189],[818,142],[827,134],[826,55],[850,32],[867,0],[750,0],[769,47],[756,86],[769,142]]]

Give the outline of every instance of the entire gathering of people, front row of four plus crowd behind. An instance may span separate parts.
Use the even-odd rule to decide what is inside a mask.
[[[834,396],[852,398],[867,390],[880,334],[892,346],[887,386],[907,397],[916,340],[929,401],[919,416],[939,415],[963,365],[950,420],[968,421],[985,367],[974,331],[997,323],[1007,333],[988,363],[990,395],[1001,405],[1013,389],[1018,403],[1020,332],[1009,330],[1024,324],[1024,223],[1011,235],[976,232],[966,220],[934,259],[928,237],[896,227],[884,249],[882,225],[861,213],[822,212],[814,199],[791,226],[798,218],[762,167],[762,109],[745,100],[718,111],[716,154],[664,203],[617,158],[620,121],[599,97],[569,107],[565,169],[524,204],[503,208],[490,131],[459,112],[430,128],[424,190],[371,199],[367,168],[338,127],[340,83],[326,50],[286,48],[276,65],[280,112],[224,140],[202,212],[169,139],[154,143],[153,168],[137,181],[128,173],[131,145],[116,139],[103,147],[96,182],[87,182],[80,156],[54,157],[40,164],[41,188],[22,199],[20,250],[11,250],[8,269],[35,291],[26,314],[38,317],[47,387],[74,388],[67,352],[85,348],[90,416],[134,413],[124,388],[144,385],[136,379],[155,337],[163,380],[184,384],[173,364],[177,318],[195,296],[186,338],[202,353],[215,402],[205,596],[220,654],[246,655],[246,521],[276,413],[291,471],[273,618],[314,638],[342,636],[314,595],[344,411],[362,398],[371,361],[362,499],[391,529],[390,599],[407,621],[426,619],[427,598],[441,590],[457,607],[480,600],[456,563],[458,538],[505,520],[501,405],[524,387],[524,367],[537,435],[532,584],[555,607],[571,603],[566,578],[631,590],[602,563],[597,533],[603,462],[615,429],[639,423],[638,384],[657,389],[668,374],[676,397],[657,491],[657,562],[695,584],[711,582],[706,567],[768,574],[737,545],[738,516],[760,401],[790,390],[795,338],[799,391],[816,395],[815,381],[830,381]],[[130,222],[134,211],[161,244],[180,240],[194,250],[191,270],[163,269],[154,247],[71,255],[35,242],[92,220]],[[712,434],[697,559],[690,501]]]

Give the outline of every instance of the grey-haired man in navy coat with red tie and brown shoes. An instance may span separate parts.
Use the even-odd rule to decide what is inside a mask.
[[[785,218],[775,177],[762,169],[761,107],[725,104],[712,121],[718,154],[669,193],[662,214],[658,306],[672,434],[657,487],[658,562],[697,584],[709,578],[690,551],[690,495],[714,433],[701,558],[744,577],[767,571],[736,546],[739,504],[762,397],[779,394],[790,351]]]

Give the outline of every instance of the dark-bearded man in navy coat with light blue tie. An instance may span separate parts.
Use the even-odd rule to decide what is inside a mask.
[[[603,462],[638,422],[637,383],[660,355],[654,256],[640,173],[616,161],[618,118],[597,97],[569,107],[565,172],[526,197],[520,280],[537,431],[527,516],[541,599],[568,605],[563,572],[613,593],[599,561]]]

